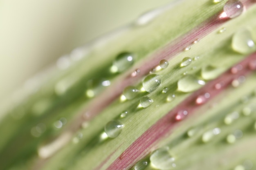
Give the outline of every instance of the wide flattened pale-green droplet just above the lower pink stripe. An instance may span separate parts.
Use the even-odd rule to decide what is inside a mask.
[[[205,82],[193,75],[185,75],[178,81],[178,90],[182,92],[192,92],[201,88]]]

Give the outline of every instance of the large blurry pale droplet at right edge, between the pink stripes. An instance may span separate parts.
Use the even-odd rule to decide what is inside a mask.
[[[256,51],[256,46],[248,29],[241,29],[233,35],[232,49],[242,54],[249,54]]]

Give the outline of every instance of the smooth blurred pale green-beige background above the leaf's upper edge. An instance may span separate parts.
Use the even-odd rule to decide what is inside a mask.
[[[0,0],[0,102],[77,46],[170,0]]]

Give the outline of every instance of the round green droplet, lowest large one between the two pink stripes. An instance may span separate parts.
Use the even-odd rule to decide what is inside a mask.
[[[121,133],[123,128],[124,124],[122,124],[120,121],[111,120],[106,124],[104,130],[108,137],[115,138]]]

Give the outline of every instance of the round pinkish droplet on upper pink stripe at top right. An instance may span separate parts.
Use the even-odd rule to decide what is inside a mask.
[[[239,0],[228,0],[223,7],[223,11],[229,18],[236,18],[243,13],[243,3]]]

